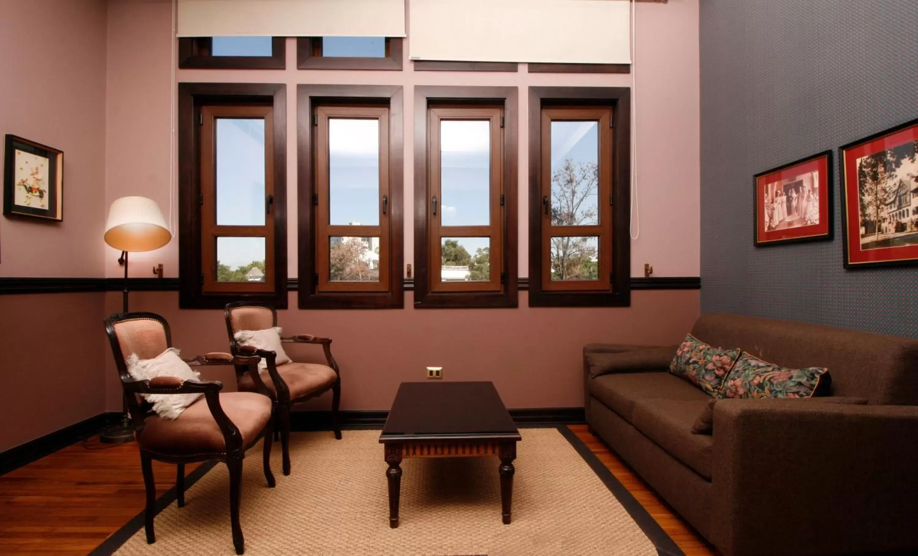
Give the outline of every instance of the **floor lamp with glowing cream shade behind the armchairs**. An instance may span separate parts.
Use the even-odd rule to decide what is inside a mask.
[[[106,243],[121,251],[118,264],[124,265],[123,312],[128,312],[128,253],[160,249],[172,233],[156,202],[146,197],[121,197],[108,209]],[[126,354],[127,355],[127,354]],[[122,401],[121,422],[106,428],[100,438],[106,444],[120,444],[134,438],[128,417],[128,402]]]

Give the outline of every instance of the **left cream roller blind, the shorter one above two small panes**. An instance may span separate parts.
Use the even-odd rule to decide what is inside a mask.
[[[404,37],[405,0],[178,0],[179,37]]]

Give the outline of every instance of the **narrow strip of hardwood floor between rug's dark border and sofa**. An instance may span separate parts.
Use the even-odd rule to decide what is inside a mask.
[[[676,544],[686,556],[718,556],[715,550],[704,539],[701,539],[693,528],[678,517],[677,514],[664,502],[654,491],[650,489],[644,481],[633,473],[619,458],[609,450],[606,444],[590,434],[586,425],[569,425],[577,438],[587,445],[590,451],[599,457],[606,467],[615,475],[619,483],[628,489],[634,498],[644,506],[656,523],[666,531],[669,537],[676,541]]]

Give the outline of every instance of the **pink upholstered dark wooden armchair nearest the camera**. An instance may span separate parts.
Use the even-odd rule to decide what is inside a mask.
[[[106,318],[106,333],[118,368],[121,386],[128,400],[134,437],[140,447],[140,466],[147,491],[144,526],[147,542],[156,537],[153,517],[156,513],[156,485],[152,460],[175,463],[178,473],[175,491],[178,506],[185,506],[185,463],[223,461],[229,468],[229,515],[232,541],[237,554],[244,551],[239,522],[242,482],[242,459],[246,450],[264,438],[264,478],[274,487],[271,473],[272,403],[263,394],[229,392],[221,394],[218,382],[183,381],[178,377],[158,377],[135,381],[128,373],[127,358],[136,353],[140,359],[152,359],[172,347],[169,324],[153,313],[127,313]],[[185,359],[191,366],[236,365],[258,374],[257,356],[232,356],[229,353]],[[199,398],[176,419],[164,419],[151,410],[141,394],[196,394]]]

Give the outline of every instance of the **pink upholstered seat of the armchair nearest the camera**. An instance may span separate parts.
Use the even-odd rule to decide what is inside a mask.
[[[271,419],[271,399],[252,392],[221,393],[218,397],[223,413],[239,429],[242,445],[248,446]],[[177,419],[164,419],[156,414],[146,417],[136,436],[142,450],[157,455],[189,456],[227,450],[223,431],[204,397],[185,407]]]

